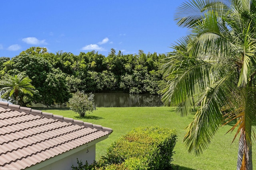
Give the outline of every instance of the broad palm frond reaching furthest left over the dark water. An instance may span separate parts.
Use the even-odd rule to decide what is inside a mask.
[[[194,57],[173,59],[168,74],[169,85],[163,90],[161,100],[165,105],[177,106],[182,115],[201,102],[202,91],[220,78],[221,70],[216,61],[203,61]],[[210,68],[210,69],[209,69]]]

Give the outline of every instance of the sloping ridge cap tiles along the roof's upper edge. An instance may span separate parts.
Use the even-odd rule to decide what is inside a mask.
[[[92,128],[96,128],[96,129],[100,129],[100,130],[104,130],[104,131],[110,131],[110,132],[113,131],[111,128],[102,127],[101,125],[95,125],[92,123],[84,122],[82,120],[76,120],[76,119],[72,119],[69,117],[63,117],[61,115],[54,115],[52,113],[43,112],[41,110],[32,109],[30,107],[22,107],[20,105],[9,104],[7,102],[0,102],[0,107],[4,107],[5,109],[10,108],[10,109],[18,110],[18,111],[24,111],[25,113],[45,116],[45,117],[52,118],[52,119],[58,119],[60,121],[65,121],[68,123],[72,122],[75,125],[84,125],[86,127],[92,127]]]

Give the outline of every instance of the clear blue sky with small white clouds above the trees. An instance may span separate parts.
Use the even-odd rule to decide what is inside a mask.
[[[48,52],[168,53],[186,29],[173,15],[184,0],[3,0],[0,57],[30,47]]]

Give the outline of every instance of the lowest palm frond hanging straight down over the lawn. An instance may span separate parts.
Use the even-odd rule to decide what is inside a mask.
[[[194,116],[194,121],[186,128],[184,142],[189,152],[199,155],[207,149],[210,139],[224,121],[221,107],[227,104],[230,94],[230,74],[206,89],[201,108]]]

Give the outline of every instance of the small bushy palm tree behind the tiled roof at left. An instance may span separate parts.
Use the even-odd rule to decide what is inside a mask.
[[[0,92],[3,92],[2,98],[6,96],[12,97],[14,95],[16,104],[22,103],[23,101],[23,95],[28,94],[30,96],[33,96],[34,93],[34,86],[31,84],[32,80],[28,77],[26,77],[23,74],[18,75],[6,75],[4,78],[0,81],[0,86],[3,88],[0,90]],[[20,100],[19,100],[20,97]]]

